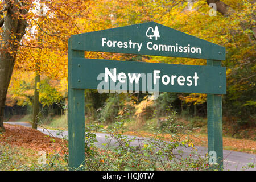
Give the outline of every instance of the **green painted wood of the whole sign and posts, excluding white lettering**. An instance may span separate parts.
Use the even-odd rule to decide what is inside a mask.
[[[146,36],[148,27],[158,26],[160,37],[149,39]],[[140,51],[138,49],[102,47],[102,38],[112,41],[122,41],[142,43]],[[175,46],[200,47],[201,54],[148,50],[146,44],[166,44]],[[152,46],[151,44],[151,46]],[[197,71],[202,82],[197,88],[180,86],[159,86],[160,91],[185,92],[185,93],[208,93],[208,151],[216,151],[217,162],[223,165],[222,147],[222,96],[226,93],[225,68],[221,67],[221,62],[225,60],[225,47],[207,42],[172,28],[163,26],[155,22],[134,24],[126,27],[112,28],[109,30],[88,32],[85,34],[72,35],[69,39],[68,51],[68,135],[69,135],[69,167],[77,168],[85,162],[85,117],[84,117],[84,89],[97,88],[96,75],[104,73],[104,66],[117,65],[117,73],[152,73],[152,70],[159,69],[164,74],[186,76]],[[191,65],[171,65],[155,63],[137,63],[131,61],[109,61],[109,60],[89,60],[84,59],[84,51],[132,53],[139,55],[187,57],[197,59],[208,59],[208,66]],[[80,67],[79,67],[80,64]],[[182,73],[182,74],[181,74]],[[159,82],[160,83],[160,82]]]

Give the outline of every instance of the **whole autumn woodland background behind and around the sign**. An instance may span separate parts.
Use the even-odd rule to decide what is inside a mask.
[[[209,15],[211,2],[217,5],[216,16]],[[227,78],[227,94],[223,96],[224,130],[226,126],[227,132],[241,137],[247,129],[253,129],[252,139],[255,139],[255,1],[42,0],[40,3],[43,6],[39,7],[39,1],[13,0],[2,1],[0,5],[1,55],[8,54],[15,60],[3,110],[4,121],[14,115],[32,113],[36,75],[40,75],[42,117],[51,120],[67,113],[71,35],[154,21],[226,48],[226,60],[222,61]],[[11,10],[6,10],[8,5],[13,11],[14,6],[19,9],[20,22],[26,20],[20,40],[20,34],[9,36],[14,48],[5,47],[7,25],[2,21],[10,14]],[[42,8],[43,15],[40,15]],[[85,57],[206,65],[206,60],[200,59],[118,53],[85,52]],[[147,119],[165,117],[166,107],[171,105],[181,118],[195,122],[207,117],[206,98],[205,94],[160,93],[158,100],[152,101],[147,94],[99,94],[97,90],[86,90],[85,116],[87,121],[108,124],[129,110],[143,125]]]

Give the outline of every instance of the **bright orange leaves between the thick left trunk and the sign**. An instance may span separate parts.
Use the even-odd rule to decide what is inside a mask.
[[[85,32],[77,26],[85,18],[92,1],[41,1],[45,5],[45,16],[38,16],[36,3],[28,19],[30,27],[24,46],[19,48],[16,69],[35,71],[50,78],[68,77],[68,38]],[[88,31],[88,30],[86,30]]]

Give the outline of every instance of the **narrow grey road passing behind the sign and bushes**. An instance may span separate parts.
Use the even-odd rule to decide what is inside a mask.
[[[31,124],[28,122],[5,122],[8,124],[14,124],[14,125],[22,125],[26,127],[31,127]],[[43,129],[42,127],[38,127],[38,130],[41,131],[44,134],[47,135],[52,135],[54,137],[61,137],[60,135],[57,135],[59,131],[57,130],[46,130]],[[68,131],[63,132],[64,137],[68,137]],[[108,139],[106,139],[106,136],[109,136],[108,134],[105,133],[97,133],[96,138],[97,138],[97,146],[98,147],[104,147],[102,146],[102,143],[108,143]],[[130,136],[133,137],[134,136]],[[139,137],[136,137],[133,142],[131,142],[131,145],[134,146],[140,146],[142,142]],[[114,140],[111,140],[110,145],[115,146]],[[195,146],[197,148],[197,152],[201,155],[205,155],[208,151],[206,147],[201,147],[201,146]],[[187,156],[191,154],[191,148],[185,148],[185,147],[180,147],[177,150],[182,150],[183,155]],[[230,171],[241,171],[241,170],[246,170],[246,171],[256,171],[256,167],[254,168],[243,168],[247,166],[247,163],[256,163],[256,155],[254,154],[247,154],[243,152],[236,152],[236,151],[228,151],[228,150],[223,150],[223,157],[224,157],[224,170],[230,170]]]

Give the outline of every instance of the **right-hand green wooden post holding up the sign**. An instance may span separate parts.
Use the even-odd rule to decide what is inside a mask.
[[[207,60],[207,65],[221,67],[221,61]],[[218,74],[224,74],[219,72]],[[221,85],[219,86],[221,88]],[[216,161],[220,168],[223,167],[222,144],[222,96],[207,94],[207,132],[208,154],[216,155]],[[213,153],[211,152],[213,151]]]

